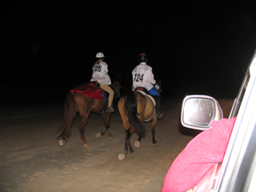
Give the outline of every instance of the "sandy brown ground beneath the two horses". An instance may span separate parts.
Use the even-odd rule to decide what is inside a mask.
[[[156,123],[156,145],[148,136],[123,161],[124,129],[119,113],[111,115],[109,131],[101,116],[91,113],[85,128],[88,148],[82,146],[76,116],[72,136],[64,147],[56,140],[63,117],[63,103],[0,108],[0,191],[161,191],[172,161],[198,131],[180,125],[182,100],[162,100],[164,119]]]

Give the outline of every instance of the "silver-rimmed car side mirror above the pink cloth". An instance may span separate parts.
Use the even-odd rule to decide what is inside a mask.
[[[223,112],[217,100],[207,95],[189,95],[182,102],[181,124],[196,130],[211,127],[212,121],[223,118]]]

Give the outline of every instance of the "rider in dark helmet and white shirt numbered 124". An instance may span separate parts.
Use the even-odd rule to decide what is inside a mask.
[[[160,112],[160,95],[156,91],[159,87],[156,84],[152,68],[148,66],[148,55],[146,53],[140,53],[139,65],[132,70],[132,91],[137,87],[143,87],[148,90],[149,94],[156,100],[156,117],[158,119],[164,118],[164,115]],[[155,86],[154,86],[155,85]]]

